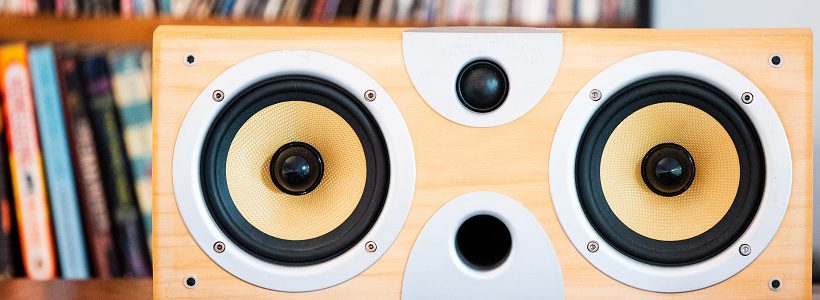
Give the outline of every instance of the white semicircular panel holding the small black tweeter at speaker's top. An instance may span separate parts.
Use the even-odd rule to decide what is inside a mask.
[[[563,40],[550,29],[424,28],[405,31],[402,50],[410,80],[430,107],[465,126],[492,127],[520,118],[544,97],[558,73]],[[477,72],[464,72],[471,66]],[[494,100],[470,105],[465,97]]]

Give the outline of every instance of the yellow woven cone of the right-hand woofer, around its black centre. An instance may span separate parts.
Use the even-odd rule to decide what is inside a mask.
[[[663,143],[682,146],[695,163],[692,185],[677,196],[654,193],[641,177],[644,156]],[[740,162],[716,119],[691,105],[663,102],[618,124],[604,146],[600,178],[607,204],[627,227],[648,238],[679,241],[723,218],[738,191]]]

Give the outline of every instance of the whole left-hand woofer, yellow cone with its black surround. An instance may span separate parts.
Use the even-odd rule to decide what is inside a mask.
[[[309,168],[323,171],[310,190],[289,191],[271,174],[284,161],[277,154],[293,143],[315,152],[294,158],[321,157]],[[284,76],[249,87],[223,109],[201,170],[208,208],[239,246],[272,262],[311,264],[343,253],[376,221],[389,158],[381,131],[352,95],[318,78]]]

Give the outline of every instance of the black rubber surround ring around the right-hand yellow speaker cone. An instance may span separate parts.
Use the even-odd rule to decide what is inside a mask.
[[[612,212],[601,187],[601,155],[615,127],[635,111],[663,102],[692,105],[715,118],[732,138],[740,160],[740,182],[729,210],[714,227],[680,241],[648,238],[627,227]],[[735,242],[760,206],[766,169],[757,132],[735,101],[705,82],[679,76],[652,77],[615,93],[587,125],[575,163],[581,206],[598,234],[621,253],[659,266],[701,262]]]

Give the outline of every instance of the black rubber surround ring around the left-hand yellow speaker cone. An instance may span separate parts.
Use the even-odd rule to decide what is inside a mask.
[[[239,128],[258,111],[286,101],[312,102],[341,116],[356,132],[367,165],[367,174],[362,174],[366,176],[364,192],[350,216],[337,228],[308,240],[276,238],[251,225],[234,205],[225,178],[228,150]],[[281,76],[245,89],[222,109],[202,148],[200,182],[211,215],[239,247],[273,263],[310,265],[344,253],[370,230],[386,199],[389,162],[378,125],[350,93],[314,77]]]

